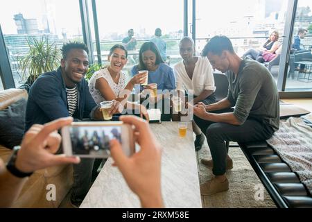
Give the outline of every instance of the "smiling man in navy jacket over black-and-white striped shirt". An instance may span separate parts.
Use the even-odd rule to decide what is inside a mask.
[[[84,78],[89,66],[85,44],[70,42],[62,47],[61,65],[56,71],[42,74],[32,85],[26,108],[26,130],[33,124],[44,124],[61,117],[103,120],[101,109],[89,93]],[[119,112],[120,103],[114,102],[111,112]],[[94,159],[82,159],[73,166],[73,190],[71,200],[79,205],[92,179]]]

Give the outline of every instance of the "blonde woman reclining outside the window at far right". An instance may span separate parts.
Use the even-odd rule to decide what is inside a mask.
[[[249,49],[243,54],[243,57],[251,58],[252,60],[261,60],[263,52],[275,53],[279,48],[279,33],[277,31],[272,31],[270,37],[260,49]],[[259,62],[259,61],[258,61]]]

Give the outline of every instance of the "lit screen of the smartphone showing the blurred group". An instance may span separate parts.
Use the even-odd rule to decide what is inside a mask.
[[[121,126],[71,126],[73,155],[109,156],[110,140],[121,143]]]

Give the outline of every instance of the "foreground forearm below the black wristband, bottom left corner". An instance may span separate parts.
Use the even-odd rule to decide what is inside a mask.
[[[10,207],[19,196],[27,178],[17,178],[6,169],[0,173],[0,208]]]

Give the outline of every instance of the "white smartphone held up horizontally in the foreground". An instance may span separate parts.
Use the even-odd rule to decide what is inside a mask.
[[[121,143],[125,155],[135,153],[132,126],[122,121],[73,122],[61,130],[64,154],[86,158],[110,156],[110,140]]]

